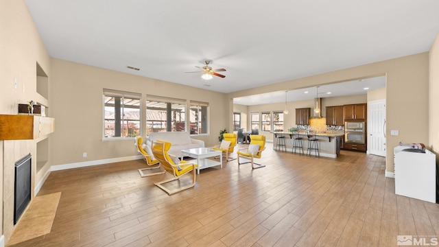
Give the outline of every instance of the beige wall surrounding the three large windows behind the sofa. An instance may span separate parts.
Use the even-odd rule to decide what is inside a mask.
[[[104,88],[141,93],[143,102],[147,94],[209,102],[210,134],[194,137],[202,139],[206,146],[217,144],[219,130],[228,128],[231,121],[228,108],[224,107],[228,100],[223,93],[64,60],[53,59],[51,63],[51,114],[56,119],[56,132],[51,134],[49,146],[51,165],[137,155],[132,139],[102,141]],[[68,148],[60,143],[66,143]],[[83,152],[87,153],[86,158],[82,157]]]

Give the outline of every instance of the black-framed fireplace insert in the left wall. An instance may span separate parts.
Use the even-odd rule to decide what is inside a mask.
[[[14,224],[19,221],[31,196],[31,155],[21,158],[15,163],[14,185]]]

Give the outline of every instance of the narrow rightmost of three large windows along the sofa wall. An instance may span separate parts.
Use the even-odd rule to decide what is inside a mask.
[[[191,134],[209,133],[208,113],[208,103],[191,101],[191,115],[189,119]]]

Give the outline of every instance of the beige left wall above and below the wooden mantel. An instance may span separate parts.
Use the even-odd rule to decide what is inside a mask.
[[[18,104],[34,100],[49,106],[49,99],[36,93],[36,62],[51,75],[50,58],[24,1],[0,1],[0,114],[18,113]],[[17,88],[14,89],[14,78]],[[0,193],[3,203],[1,234],[5,242],[14,229],[14,163],[32,154],[32,198],[36,185],[36,143],[29,141],[0,141]]]

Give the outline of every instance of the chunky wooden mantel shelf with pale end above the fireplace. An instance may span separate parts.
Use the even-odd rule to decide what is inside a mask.
[[[55,130],[55,119],[34,115],[0,115],[0,140],[44,137]]]

